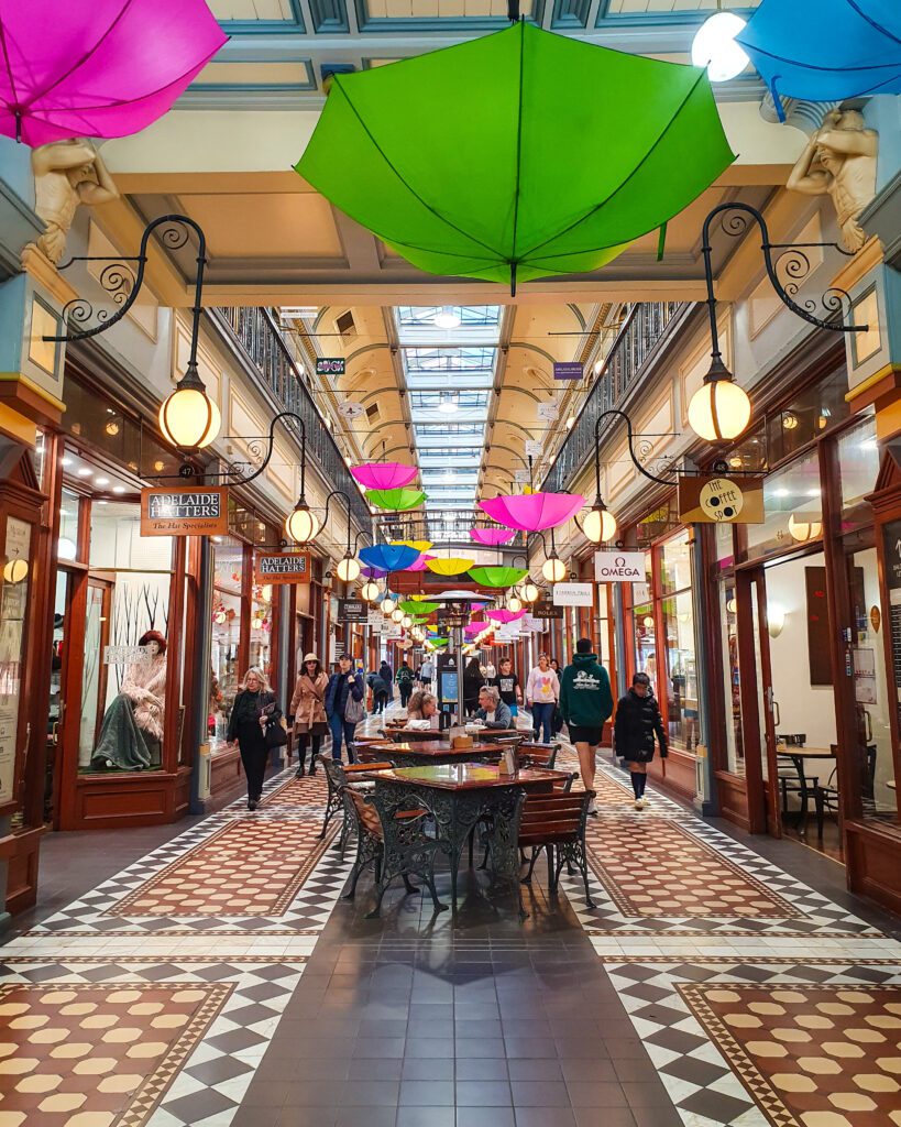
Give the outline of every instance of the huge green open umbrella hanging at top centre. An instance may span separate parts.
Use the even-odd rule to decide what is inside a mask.
[[[595,270],[731,165],[704,69],[520,21],[336,74],[296,170],[413,265]]]

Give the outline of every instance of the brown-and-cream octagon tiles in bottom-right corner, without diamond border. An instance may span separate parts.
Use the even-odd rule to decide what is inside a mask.
[[[901,985],[695,983],[679,993],[776,1127],[901,1121]]]

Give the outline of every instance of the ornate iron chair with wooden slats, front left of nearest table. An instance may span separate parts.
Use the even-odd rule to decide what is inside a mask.
[[[380,917],[382,898],[395,877],[403,879],[408,893],[418,891],[410,884],[410,875],[426,882],[435,911],[445,912],[447,905],[438,900],[435,889],[435,854],[440,850],[440,843],[425,832],[429,811],[404,805],[409,802],[405,797],[385,799],[377,791],[366,793],[354,787],[345,787],[345,793],[357,819],[357,858],[345,899],[354,899],[360,873],[372,864],[376,898],[375,907],[366,914],[367,920]]]

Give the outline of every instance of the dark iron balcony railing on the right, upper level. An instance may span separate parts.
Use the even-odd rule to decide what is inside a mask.
[[[613,407],[619,407],[641,379],[644,365],[657,348],[667,326],[685,308],[684,302],[642,302],[632,307],[603,371],[595,380],[579,417],[544,479],[542,489],[554,492],[571,485],[595,449],[595,424],[598,416]],[[603,437],[601,431],[601,440]]]

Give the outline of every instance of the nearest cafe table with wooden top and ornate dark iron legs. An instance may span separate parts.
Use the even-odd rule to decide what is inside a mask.
[[[470,751],[472,754],[472,749]],[[519,888],[519,848],[516,818],[524,795],[550,793],[569,778],[564,771],[530,767],[514,775],[498,766],[448,763],[440,766],[395,767],[366,777],[387,808],[414,801],[435,818],[436,837],[450,864],[450,905],[456,912],[460,857],[479,820],[491,816],[491,857],[499,877]]]

